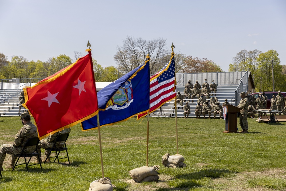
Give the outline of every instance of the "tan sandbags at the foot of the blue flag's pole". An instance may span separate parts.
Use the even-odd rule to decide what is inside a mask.
[[[141,182],[147,176],[158,175],[159,166],[142,166],[129,171],[129,175],[136,181]]]

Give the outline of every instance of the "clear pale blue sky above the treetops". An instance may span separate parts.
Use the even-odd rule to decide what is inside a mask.
[[[116,66],[127,36],[166,38],[175,52],[208,58],[227,71],[241,50],[276,50],[286,64],[286,1],[0,0],[0,52],[46,61],[92,45],[102,66]],[[152,59],[152,58],[151,58]]]

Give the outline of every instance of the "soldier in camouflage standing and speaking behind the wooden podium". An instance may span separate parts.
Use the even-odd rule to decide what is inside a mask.
[[[240,93],[241,101],[237,106],[240,109],[239,115],[239,124],[242,131],[239,133],[248,133],[248,122],[247,122],[247,113],[248,113],[248,99],[245,96],[245,92]]]

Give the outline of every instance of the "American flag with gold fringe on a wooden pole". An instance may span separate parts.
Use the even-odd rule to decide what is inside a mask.
[[[176,97],[175,58],[172,56],[159,72],[150,77],[150,113]],[[145,116],[143,113],[137,119]]]

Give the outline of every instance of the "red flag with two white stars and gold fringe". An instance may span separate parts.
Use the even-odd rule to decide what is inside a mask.
[[[75,63],[24,88],[25,103],[40,139],[98,113],[91,52]]]

